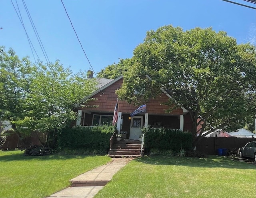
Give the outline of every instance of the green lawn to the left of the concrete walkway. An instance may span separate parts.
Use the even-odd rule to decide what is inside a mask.
[[[69,180],[110,161],[108,156],[23,156],[0,151],[0,197],[43,198],[70,185]]]

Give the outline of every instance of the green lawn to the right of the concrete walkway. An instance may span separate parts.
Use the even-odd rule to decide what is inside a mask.
[[[256,166],[226,157],[132,160],[95,198],[255,198]]]

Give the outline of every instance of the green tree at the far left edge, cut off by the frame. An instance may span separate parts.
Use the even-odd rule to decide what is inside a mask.
[[[8,120],[20,137],[15,122],[26,116],[26,93],[34,71],[28,57],[20,60],[13,49],[6,52],[0,46],[0,120]]]

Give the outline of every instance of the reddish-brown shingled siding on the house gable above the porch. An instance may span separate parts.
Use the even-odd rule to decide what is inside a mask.
[[[96,99],[94,101],[90,101],[86,103],[86,107],[81,109],[88,110],[88,111],[100,111],[100,112],[113,112],[114,107],[116,105],[117,95],[115,91],[119,89],[122,85],[123,79],[120,79],[116,83],[112,84],[111,86],[107,87],[100,93],[97,93],[92,98]],[[165,94],[160,95],[157,99],[150,99],[146,104],[147,113],[149,114],[160,114],[160,115],[181,115],[183,114],[183,110],[181,108],[174,109],[171,113],[166,113],[165,110],[168,109],[168,106],[163,105],[168,101],[168,96]],[[92,105],[98,105],[97,108],[95,107],[88,107]],[[142,105],[142,104],[141,104]],[[133,112],[138,106],[131,105],[125,101],[119,101],[119,111],[122,113],[131,113]]]

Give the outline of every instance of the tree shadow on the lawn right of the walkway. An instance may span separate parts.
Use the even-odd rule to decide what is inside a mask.
[[[256,169],[256,166],[238,162],[224,156],[209,156],[207,158],[175,157],[175,156],[146,156],[136,161],[152,165],[190,166],[198,168],[238,168]]]

